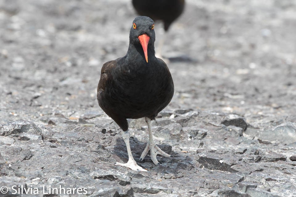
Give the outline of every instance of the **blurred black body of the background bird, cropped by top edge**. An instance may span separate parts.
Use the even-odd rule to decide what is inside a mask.
[[[185,5],[184,0],[133,0],[132,3],[139,15],[163,21],[165,31],[182,14]]]

